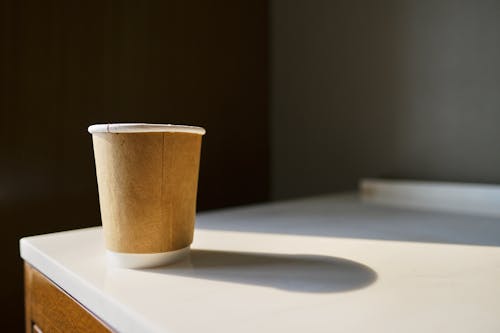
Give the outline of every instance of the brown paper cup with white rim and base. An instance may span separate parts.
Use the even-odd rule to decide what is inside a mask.
[[[201,127],[92,125],[108,260],[151,267],[185,256],[193,241]]]

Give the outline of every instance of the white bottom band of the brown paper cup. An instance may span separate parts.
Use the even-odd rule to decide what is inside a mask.
[[[106,250],[108,264],[120,268],[150,268],[169,265],[186,257],[190,246],[159,253],[121,253]]]

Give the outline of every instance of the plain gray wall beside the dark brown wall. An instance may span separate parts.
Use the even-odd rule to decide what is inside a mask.
[[[272,196],[500,182],[500,1],[275,0]]]

